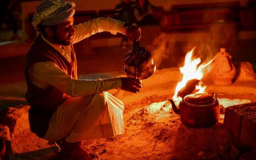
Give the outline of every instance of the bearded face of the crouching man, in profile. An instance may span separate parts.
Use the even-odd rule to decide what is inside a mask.
[[[73,24],[74,18],[72,16],[67,21],[56,25],[56,28],[53,33],[54,42],[63,46],[70,45],[75,34]]]

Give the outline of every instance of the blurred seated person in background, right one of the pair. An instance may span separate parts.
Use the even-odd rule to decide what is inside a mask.
[[[152,15],[152,6],[148,0],[136,0],[134,8],[134,17],[139,26],[148,24],[157,24],[154,16]]]

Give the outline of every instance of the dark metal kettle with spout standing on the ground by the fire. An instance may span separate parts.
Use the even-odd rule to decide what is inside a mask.
[[[211,127],[220,118],[220,106],[216,94],[214,96],[208,93],[188,94],[182,98],[179,109],[172,99],[169,101],[173,111],[180,115],[181,122],[188,127]]]

